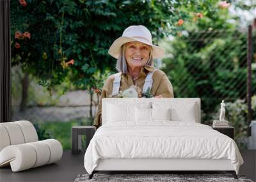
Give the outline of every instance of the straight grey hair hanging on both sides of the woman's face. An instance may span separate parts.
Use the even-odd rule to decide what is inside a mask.
[[[126,74],[128,72],[127,69],[127,63],[126,63],[126,59],[125,59],[125,44],[122,45],[121,50],[120,50],[120,55],[116,61],[116,70],[118,70],[118,72],[122,72],[124,74]],[[153,64],[153,56],[152,56],[152,47],[150,46],[150,54],[149,54],[149,59],[147,61],[147,63],[145,64],[145,66],[152,66]]]

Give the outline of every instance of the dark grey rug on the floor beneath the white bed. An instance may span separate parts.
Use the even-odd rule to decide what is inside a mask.
[[[243,181],[253,182],[251,179],[246,179],[244,176],[239,176],[238,179],[234,179],[232,174],[99,174],[93,175],[92,179],[88,179],[89,174],[79,174],[75,179],[75,182],[85,181],[209,181],[209,182],[220,182],[220,181]]]

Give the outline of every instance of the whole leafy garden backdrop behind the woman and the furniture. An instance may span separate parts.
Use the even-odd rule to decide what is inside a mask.
[[[104,80],[116,72],[111,43],[142,24],[166,50],[154,64],[168,75],[175,98],[201,98],[206,125],[225,100],[236,142],[246,148],[247,37],[255,17],[253,0],[13,0],[12,121],[31,121],[40,139],[70,149],[71,126],[92,125]],[[256,51],[251,66],[256,119]]]

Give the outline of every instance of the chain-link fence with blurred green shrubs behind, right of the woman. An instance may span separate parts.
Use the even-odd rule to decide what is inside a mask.
[[[247,30],[183,32],[168,42],[167,51],[163,70],[172,82],[175,98],[201,98],[205,124],[212,122],[221,100],[246,100]],[[255,91],[253,70],[252,93]]]

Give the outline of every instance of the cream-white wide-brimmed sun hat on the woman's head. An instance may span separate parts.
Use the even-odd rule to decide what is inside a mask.
[[[108,54],[118,59],[120,55],[120,49],[124,43],[127,42],[142,42],[150,45],[152,47],[152,57],[153,59],[164,57],[164,49],[162,47],[153,45],[152,35],[150,31],[145,26],[129,26],[124,30],[122,36],[117,38],[115,42],[112,43],[108,50]]]

